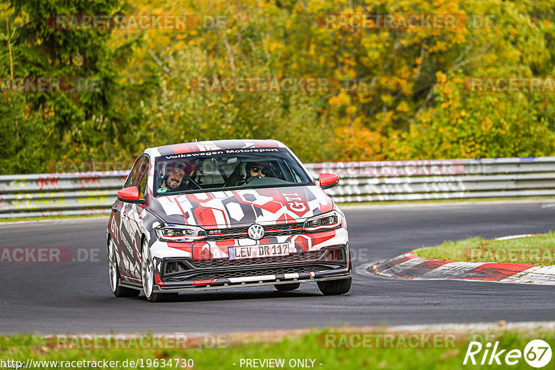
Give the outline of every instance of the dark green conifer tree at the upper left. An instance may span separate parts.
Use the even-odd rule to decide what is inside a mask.
[[[9,17],[4,22],[10,21],[16,30],[11,39],[14,77],[60,78],[62,86],[74,88],[61,92],[12,93],[8,97],[11,108],[3,107],[16,111],[0,116],[0,125],[8,128],[7,132],[22,129],[22,125],[15,127],[21,119],[19,115],[33,117],[34,130],[22,132],[19,136],[26,139],[16,140],[10,150],[26,152],[29,143],[37,144],[42,156],[36,158],[42,160],[37,160],[35,170],[44,170],[47,161],[56,159],[89,161],[130,157],[127,152],[130,137],[140,130],[137,123],[144,118],[141,106],[135,102],[151,94],[148,87],[155,84],[155,76],[132,82],[123,73],[126,59],[139,38],[130,38],[114,47],[110,41],[111,30],[57,29],[53,18],[125,11],[117,0],[8,1],[4,13]],[[3,71],[8,66],[6,54],[1,59]],[[78,84],[82,89],[79,90]],[[123,154],[114,156],[114,152]],[[21,161],[9,169],[2,168],[3,173],[28,170],[17,163]]]

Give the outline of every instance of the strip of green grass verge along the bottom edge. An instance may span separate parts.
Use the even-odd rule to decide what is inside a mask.
[[[358,336],[357,336],[358,335]],[[431,335],[431,336],[430,336]],[[148,344],[148,336],[143,337]],[[388,339],[387,339],[388,338]],[[439,340],[437,340],[439,339]],[[233,344],[226,348],[164,348],[137,349],[135,345],[118,349],[83,349],[76,342],[71,348],[59,348],[56,341],[32,335],[0,336],[0,359],[27,363],[34,361],[118,361],[104,369],[246,369],[246,359],[283,359],[282,369],[468,369],[463,360],[471,340],[482,344],[481,352],[475,355],[479,363],[485,353],[486,343],[499,342],[498,349],[512,349],[524,352],[530,340],[545,340],[555,348],[555,333],[552,331],[497,331],[495,333],[386,333],[384,331],[311,331],[302,335],[280,338],[266,338],[264,341]],[[240,342],[240,341],[239,341]],[[94,343],[92,341],[87,342]],[[105,343],[105,342],[104,342]],[[103,344],[106,345],[106,344]],[[103,346],[96,344],[96,347]],[[125,346],[125,344],[123,344]],[[121,347],[121,346],[120,346]],[[335,348],[334,348],[335,347]],[[475,348],[477,349],[477,345]],[[176,361],[176,359],[179,359]],[[124,366],[127,360],[127,366]],[[170,361],[171,360],[171,361]],[[189,360],[189,362],[187,362]],[[190,365],[192,360],[193,366]],[[241,362],[243,360],[243,362]],[[296,366],[291,366],[291,360]],[[314,360],[314,362],[312,362]],[[487,356],[486,361],[489,360]],[[504,355],[500,356],[504,360]],[[523,357],[511,369],[530,369]],[[135,363],[131,364],[130,361]],[[304,362],[303,362],[304,361]],[[138,362],[138,363],[137,363]],[[242,363],[242,366],[241,366]],[[487,363],[487,362],[486,362]],[[552,363],[550,361],[549,363]],[[171,366],[169,366],[171,364]],[[176,366],[176,364],[178,366]],[[305,364],[305,366],[299,366]],[[56,369],[55,364],[37,364],[31,368]],[[82,368],[93,367],[81,366]],[[147,366],[148,365],[148,366]],[[269,368],[268,366],[261,368]],[[493,366],[494,369],[504,368]],[[69,367],[66,367],[69,368]],[[250,367],[252,368],[252,366]],[[489,367],[488,367],[489,368]]]

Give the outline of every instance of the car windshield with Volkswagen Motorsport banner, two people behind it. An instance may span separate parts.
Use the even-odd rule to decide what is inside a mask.
[[[314,185],[284,148],[244,148],[157,157],[155,196],[238,188]]]

